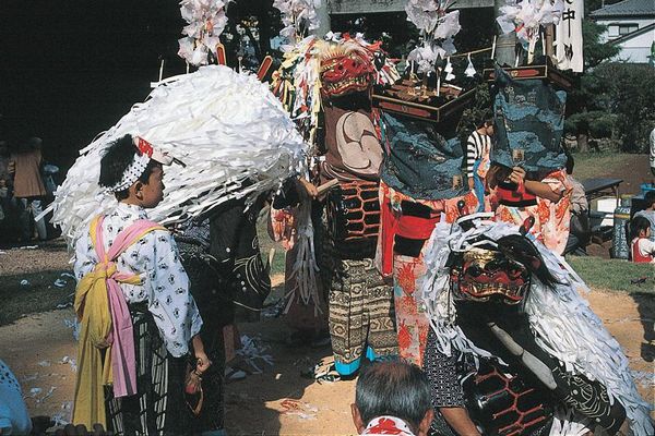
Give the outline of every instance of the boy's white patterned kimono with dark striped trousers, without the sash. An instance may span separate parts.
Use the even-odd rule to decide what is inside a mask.
[[[119,203],[102,225],[105,250],[123,229],[146,218],[142,207]],[[79,280],[98,263],[88,233],[87,226],[75,242]],[[184,356],[202,319],[172,235],[164,230],[146,233],[118,256],[116,267],[141,277],[140,284],[120,286],[134,331],[136,395],[114,398],[106,388],[107,425],[118,435],[184,434]]]

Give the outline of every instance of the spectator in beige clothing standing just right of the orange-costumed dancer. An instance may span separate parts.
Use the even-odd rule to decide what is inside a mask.
[[[567,181],[571,187],[571,223],[569,226],[569,240],[564,254],[573,253],[586,255],[585,246],[590,241],[590,203],[586,199],[584,186],[573,178],[573,167],[575,161],[573,156],[567,150]]]

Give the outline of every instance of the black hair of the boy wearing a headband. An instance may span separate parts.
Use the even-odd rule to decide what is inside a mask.
[[[123,172],[132,164],[134,155],[138,154],[139,149],[134,146],[131,135],[124,135],[114,141],[100,159],[100,178],[98,184],[103,187],[110,187],[120,182]],[[147,184],[153,170],[159,165],[157,161],[151,159],[138,180]],[[127,198],[129,195],[128,190],[129,187],[116,192],[116,199],[121,201]]]

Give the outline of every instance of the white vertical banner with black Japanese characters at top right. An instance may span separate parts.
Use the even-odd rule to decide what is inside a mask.
[[[582,73],[584,59],[582,53],[582,20],[584,0],[564,0],[564,10],[556,26],[557,63],[560,70],[573,70]]]

